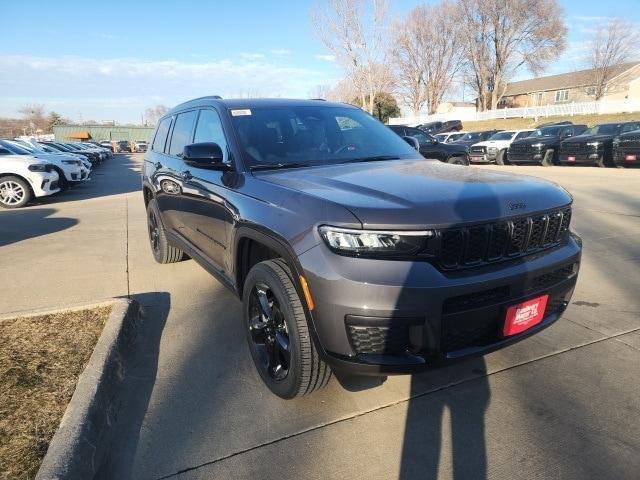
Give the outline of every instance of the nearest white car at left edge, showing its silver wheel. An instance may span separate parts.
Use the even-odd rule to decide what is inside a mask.
[[[26,155],[12,155],[0,147],[0,207],[24,207],[34,197],[60,191],[58,172],[50,163]]]

